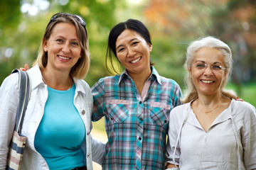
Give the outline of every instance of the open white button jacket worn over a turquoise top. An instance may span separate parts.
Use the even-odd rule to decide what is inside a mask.
[[[28,101],[21,130],[21,134],[27,137],[21,170],[49,169],[45,159],[43,159],[34,147],[36,130],[43,117],[43,111],[48,98],[48,90],[47,86],[43,83],[38,65],[32,67],[27,72],[31,77],[31,97]],[[90,135],[92,130],[91,115],[93,106],[90,87],[84,80],[74,79],[74,82],[74,104],[80,113],[86,130],[86,146],[84,142],[82,149],[85,152],[87,169],[92,169],[92,159],[94,162],[102,164],[105,144],[98,142]],[[6,169],[9,143],[14,132],[16,120],[18,96],[18,74],[11,74],[4,79],[0,87],[0,170]]]

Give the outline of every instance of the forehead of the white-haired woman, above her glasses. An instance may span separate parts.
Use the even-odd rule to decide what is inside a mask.
[[[200,50],[195,52],[193,62],[196,61],[223,63],[224,56],[218,49],[212,47],[202,47]]]

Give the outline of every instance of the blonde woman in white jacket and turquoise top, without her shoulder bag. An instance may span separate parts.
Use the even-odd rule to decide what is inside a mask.
[[[82,80],[90,66],[85,21],[56,13],[43,35],[36,64],[28,69],[31,98],[21,133],[27,137],[21,169],[92,169],[105,145],[90,136],[92,94]],[[18,107],[18,75],[0,88],[0,169],[6,169]],[[92,154],[93,152],[93,154]]]

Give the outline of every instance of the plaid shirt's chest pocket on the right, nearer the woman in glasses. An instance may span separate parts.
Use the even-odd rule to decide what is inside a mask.
[[[166,103],[151,102],[150,103],[150,118],[156,125],[164,126],[169,123],[169,114],[171,106]]]

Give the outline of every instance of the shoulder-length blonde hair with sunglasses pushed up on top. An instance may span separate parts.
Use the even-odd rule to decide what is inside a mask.
[[[48,26],[46,27],[45,33],[43,35],[43,40],[41,41],[41,45],[38,50],[38,57],[36,59],[36,62],[33,63],[33,65],[38,64],[41,70],[43,70],[46,67],[48,63],[48,53],[43,50],[43,42],[50,38],[53,28],[58,23],[72,23],[77,30],[82,51],[80,59],[70,70],[70,76],[76,79],[84,79],[90,68],[90,52],[87,30],[80,23],[78,23],[78,21],[76,21],[75,18],[73,18],[73,16],[71,15],[59,17],[55,21],[50,21],[48,23]]]

